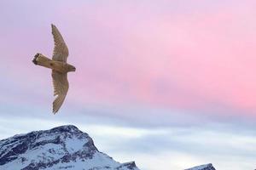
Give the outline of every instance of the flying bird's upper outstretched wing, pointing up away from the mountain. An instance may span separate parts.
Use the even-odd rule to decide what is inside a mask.
[[[51,25],[51,33],[54,37],[55,48],[52,56],[53,60],[67,62],[68,48],[61,36],[60,31],[58,31],[55,25]]]

